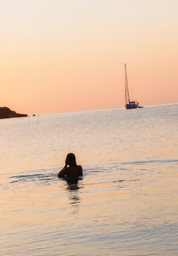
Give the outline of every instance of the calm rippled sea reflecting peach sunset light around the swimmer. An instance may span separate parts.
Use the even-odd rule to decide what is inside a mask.
[[[0,124],[1,255],[178,255],[178,105]]]

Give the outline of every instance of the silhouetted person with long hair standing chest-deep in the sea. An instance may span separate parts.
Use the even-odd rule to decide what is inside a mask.
[[[59,178],[77,178],[83,175],[81,165],[76,164],[76,157],[73,153],[69,153],[66,157],[65,166],[58,173]]]

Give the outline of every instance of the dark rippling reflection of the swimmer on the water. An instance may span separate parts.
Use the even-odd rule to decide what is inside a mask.
[[[68,199],[70,200],[70,205],[72,206],[72,214],[77,214],[81,206],[81,198],[79,189],[83,186],[78,185],[78,181],[82,180],[82,177],[65,179],[67,182],[67,190],[70,191],[68,194]]]

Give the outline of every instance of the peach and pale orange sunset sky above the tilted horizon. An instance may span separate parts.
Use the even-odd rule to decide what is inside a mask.
[[[24,114],[178,102],[177,0],[6,0],[0,106]]]

